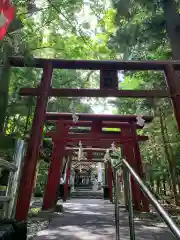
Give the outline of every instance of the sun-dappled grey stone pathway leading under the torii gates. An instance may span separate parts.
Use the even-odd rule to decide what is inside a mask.
[[[98,199],[73,199],[64,204],[64,214],[56,215],[48,229],[35,240],[115,240],[114,206]],[[175,240],[163,227],[136,221],[137,240]],[[129,240],[128,216],[120,209],[120,239]]]

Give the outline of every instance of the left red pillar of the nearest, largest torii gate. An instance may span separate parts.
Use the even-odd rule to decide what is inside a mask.
[[[17,220],[26,221],[28,216],[28,210],[33,191],[34,177],[36,173],[36,165],[39,155],[39,147],[41,143],[44,119],[46,114],[46,105],[51,87],[52,71],[52,65],[47,60],[43,68],[43,76],[39,87],[39,97],[37,97],[31,135],[20,180],[15,216]]]

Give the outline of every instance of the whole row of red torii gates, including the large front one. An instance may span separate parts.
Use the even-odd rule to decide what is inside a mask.
[[[56,198],[56,187],[59,183],[62,158],[68,152],[67,146],[71,147],[82,142],[83,146],[92,148],[109,148],[114,142],[121,146],[123,155],[135,168],[140,177],[143,177],[142,160],[139,149],[139,141],[146,141],[147,136],[137,135],[137,116],[121,115],[93,115],[78,114],[78,122],[72,121],[72,114],[46,113],[49,97],[131,97],[131,98],[171,98],[174,113],[180,129],[180,84],[178,83],[175,70],[180,70],[179,61],[94,61],[94,60],[58,60],[58,59],[34,59],[27,63],[22,58],[10,58],[12,67],[35,67],[43,69],[42,79],[37,88],[23,88],[21,96],[37,97],[37,104],[32,123],[32,130],[28,141],[26,156],[22,169],[19,194],[16,204],[16,219],[27,220],[31,195],[34,186],[36,165],[42,140],[43,126],[45,121],[54,121],[56,130],[46,133],[53,141],[53,153],[50,162],[48,182],[45,188],[43,208],[53,207]],[[66,89],[52,88],[53,69],[84,69],[100,71],[100,89]],[[119,90],[118,70],[163,71],[168,89],[161,90]],[[143,116],[146,122],[151,122],[152,117]],[[70,126],[90,126],[90,133],[72,134]],[[120,128],[120,133],[105,134],[103,127]],[[90,153],[93,150],[90,150]],[[90,159],[89,159],[90,160]],[[109,198],[112,200],[112,167],[107,164]],[[138,210],[149,211],[149,204],[132,180],[134,206]]]

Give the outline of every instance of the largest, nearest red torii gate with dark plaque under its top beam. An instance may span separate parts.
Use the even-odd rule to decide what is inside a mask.
[[[45,120],[46,106],[50,96],[66,97],[133,97],[133,98],[164,98],[172,99],[174,113],[180,130],[180,85],[175,77],[175,70],[180,70],[179,61],[93,61],[93,60],[60,60],[60,59],[34,59],[27,63],[23,58],[11,57],[9,63],[13,67],[42,68],[43,75],[38,88],[21,89],[21,96],[38,96],[35,115],[32,123],[31,135],[25,156],[24,167],[19,187],[19,196],[16,206],[16,219],[26,220],[33,189],[34,175]],[[101,89],[53,89],[51,79],[53,69],[91,69],[100,70]],[[118,90],[118,70],[158,70],[166,76],[168,90]],[[105,72],[112,72],[113,87],[104,84]],[[115,74],[114,74],[115,73]],[[116,77],[115,77],[116,75]],[[106,88],[106,90],[104,90]]]

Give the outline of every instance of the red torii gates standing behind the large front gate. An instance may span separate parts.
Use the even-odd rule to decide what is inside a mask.
[[[84,148],[84,150],[89,153],[87,159],[87,161],[89,162],[95,161],[92,159],[93,152],[101,151],[95,149],[97,147],[103,148],[104,151],[105,148],[110,148],[112,143],[115,143],[116,146],[123,146],[122,149],[126,159],[129,163],[131,163],[131,165],[135,167],[139,175],[141,177],[143,176],[141,154],[138,142],[145,141],[148,139],[148,137],[137,135],[136,129],[140,128],[140,126],[136,124],[137,116],[102,116],[96,114],[78,114],[78,117],[79,121],[77,123],[74,123],[72,120],[70,120],[72,118],[72,114],[46,114],[47,120],[56,120],[57,123],[56,130],[54,132],[49,132],[46,134],[47,136],[52,138],[54,147],[52,153],[52,160],[49,168],[48,182],[45,188],[43,200],[44,210],[51,209],[55,202],[57,184],[59,183],[60,172],[62,171],[63,156],[72,156],[74,148],[71,148],[70,146],[77,145],[79,144],[79,142],[82,143],[83,147],[89,148],[87,150],[86,148]],[[57,120],[58,118],[60,120]],[[83,120],[84,118],[88,120],[85,121]],[[152,120],[152,117],[144,116],[143,119],[146,122],[150,122]],[[89,133],[71,133],[69,130],[71,126],[91,126],[91,131]],[[102,131],[103,127],[120,128],[121,132]],[[70,163],[71,162],[69,161],[66,178],[68,178],[70,175]],[[107,171],[109,199],[113,201],[113,171],[110,161],[105,164],[105,168]],[[147,201],[140,192],[140,189],[134,184],[134,181],[132,181],[132,189],[136,210],[141,210],[142,205],[142,210],[148,211]],[[68,181],[66,181],[65,183],[64,190],[64,200],[66,200],[68,196]]]

